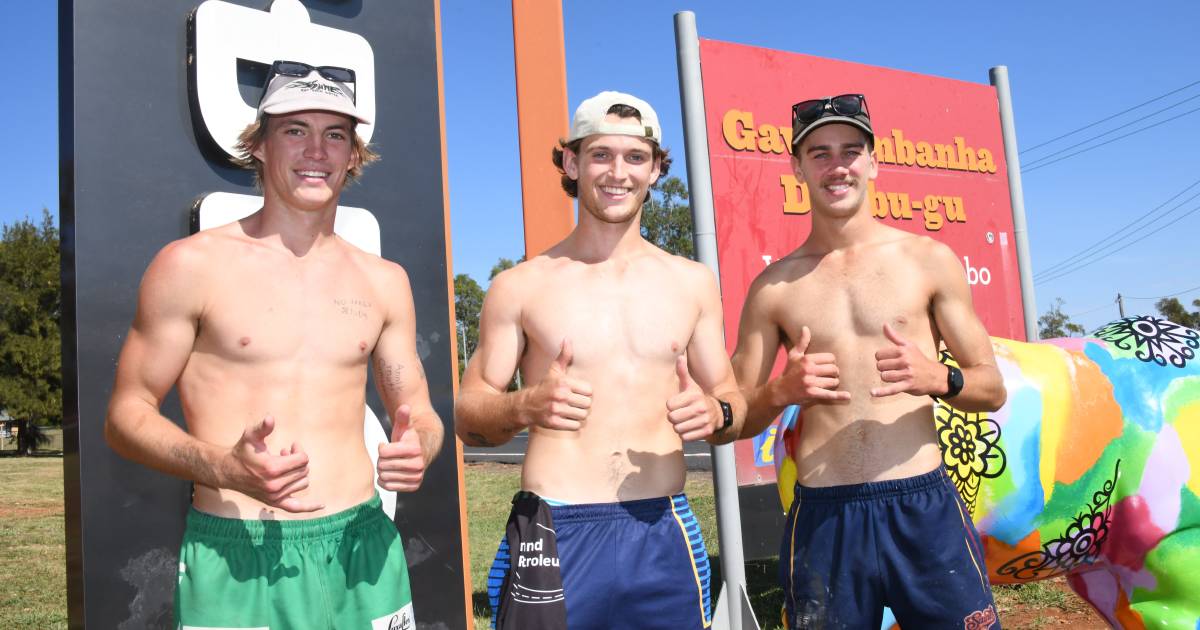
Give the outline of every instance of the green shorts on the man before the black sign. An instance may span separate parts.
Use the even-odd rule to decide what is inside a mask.
[[[175,625],[415,629],[400,534],[378,496],[304,521],[221,518],[192,508]]]

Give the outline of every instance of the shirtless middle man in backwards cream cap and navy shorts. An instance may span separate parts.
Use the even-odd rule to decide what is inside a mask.
[[[660,144],[640,98],[580,106],[554,150],[578,224],[492,281],[455,406],[468,444],[529,430],[521,487],[551,504],[571,630],[710,623],[683,443],[732,440],[744,402],[713,274],[641,236],[642,204],[670,166]],[[518,367],[524,389],[505,392]]]

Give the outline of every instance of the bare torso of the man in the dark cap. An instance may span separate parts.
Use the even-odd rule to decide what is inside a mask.
[[[833,353],[838,389],[846,403],[803,409],[796,463],[806,486],[834,486],[926,473],[941,458],[932,401],[898,394],[875,398],[882,380],[875,353],[892,342],[883,324],[936,356],[940,338],[931,318],[932,287],[923,272],[922,239],[899,230],[874,242],[808,253],[804,247],[775,263],[770,304],[788,347],[809,326],[810,353]]]

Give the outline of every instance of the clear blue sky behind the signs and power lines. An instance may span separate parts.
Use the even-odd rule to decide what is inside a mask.
[[[366,0],[382,1],[382,0]],[[264,0],[265,6],[265,0]],[[58,211],[55,2],[6,2],[0,55],[19,60],[19,89],[0,101],[8,150],[0,222]],[[853,7],[847,11],[847,7]],[[995,10],[1004,7],[1006,10]],[[571,109],[600,90],[636,94],[659,112],[665,144],[683,151],[672,16],[694,11],[701,37],[940,77],[988,82],[1009,70],[1018,140],[1034,146],[1200,82],[1200,2],[844,2],[720,0],[564,2]],[[1142,11],[1144,10],[1144,11]],[[455,272],[485,282],[500,257],[521,256],[521,190],[510,2],[442,2],[446,139]],[[1195,100],[1187,101],[1190,97]],[[1166,106],[1178,107],[1144,118]],[[1094,264],[1036,287],[1038,312],[1055,298],[1088,329],[1152,300],[1200,298],[1193,242],[1200,233],[1200,85],[1021,156],[1034,272],[1085,250],[1183,191],[1145,232]],[[1190,112],[1190,113],[1189,113]],[[1139,121],[1139,118],[1142,120]],[[1170,116],[1177,120],[1165,121]],[[1160,125],[1037,170],[1033,160],[1121,125],[1105,139]],[[565,120],[564,120],[565,126]],[[1081,146],[1080,149],[1086,148]],[[550,148],[546,148],[548,154]],[[1078,149],[1076,149],[1078,150]],[[1068,151],[1070,152],[1070,151]],[[1066,155],[1066,154],[1063,154]],[[683,174],[679,161],[678,174]],[[364,185],[370,185],[367,178]],[[1154,216],[1158,216],[1154,215]],[[1133,240],[1118,234],[1114,241]]]

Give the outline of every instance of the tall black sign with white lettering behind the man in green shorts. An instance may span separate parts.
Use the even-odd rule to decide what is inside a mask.
[[[372,107],[378,107],[370,139],[383,160],[343,192],[341,203],[373,214],[383,257],[402,264],[412,280],[418,348],[448,438],[421,491],[398,496],[396,523],[406,542],[419,628],[466,628],[458,463],[451,426],[454,337],[448,310],[437,0],[60,0],[71,626],[174,628],[172,602],[190,484],[118,456],[104,443],[103,421],[118,352],[150,259],[167,242],[196,229],[198,200],[218,192],[257,194],[251,173],[226,157],[221,122],[209,120],[211,109],[202,112],[202,96],[209,95],[197,94],[203,80],[198,68],[205,61],[197,55],[224,46],[217,40],[198,41],[208,34],[197,32],[193,16],[210,2],[222,11],[271,11],[280,20],[301,25],[298,14],[306,12],[311,25],[330,29],[324,32],[361,36],[373,56],[368,91],[373,91]],[[245,47],[247,58],[239,58],[229,76],[238,83],[232,91],[244,101],[239,107],[250,108],[266,70],[263,59],[254,56],[270,53],[263,52],[263,42],[272,40],[264,34],[262,41],[247,41],[239,24],[221,26],[229,46]],[[314,41],[313,46],[323,44]],[[360,100],[364,96],[359,94]],[[377,416],[385,416],[373,386],[368,403]],[[181,422],[174,394],[162,410]]]

